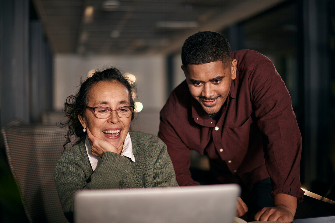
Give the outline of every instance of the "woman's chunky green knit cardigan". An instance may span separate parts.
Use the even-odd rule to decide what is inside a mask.
[[[81,189],[178,186],[166,145],[157,136],[129,132],[135,162],[104,152],[93,171],[85,141],[65,150],[55,166],[55,183],[66,218],[73,221],[74,193]]]

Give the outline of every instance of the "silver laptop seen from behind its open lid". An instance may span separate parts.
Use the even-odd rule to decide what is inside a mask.
[[[75,194],[74,220],[76,223],[231,223],[239,195],[237,184],[81,190]]]

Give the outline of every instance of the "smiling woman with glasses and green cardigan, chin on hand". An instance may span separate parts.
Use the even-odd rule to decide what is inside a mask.
[[[166,145],[156,136],[130,132],[132,85],[119,70],[95,72],[65,103],[67,141],[79,139],[55,166],[63,211],[73,221],[74,193],[81,189],[178,186]]]

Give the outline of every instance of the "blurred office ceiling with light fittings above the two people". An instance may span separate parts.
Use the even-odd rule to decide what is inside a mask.
[[[220,31],[227,23],[238,22],[282,0],[32,2],[54,53],[167,54],[180,50],[190,34],[207,27]]]

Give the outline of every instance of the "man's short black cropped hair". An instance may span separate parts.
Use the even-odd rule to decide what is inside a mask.
[[[205,64],[222,61],[223,65],[231,63],[231,49],[225,36],[217,32],[204,31],[191,35],[182,48],[182,63],[185,68],[189,64]]]

